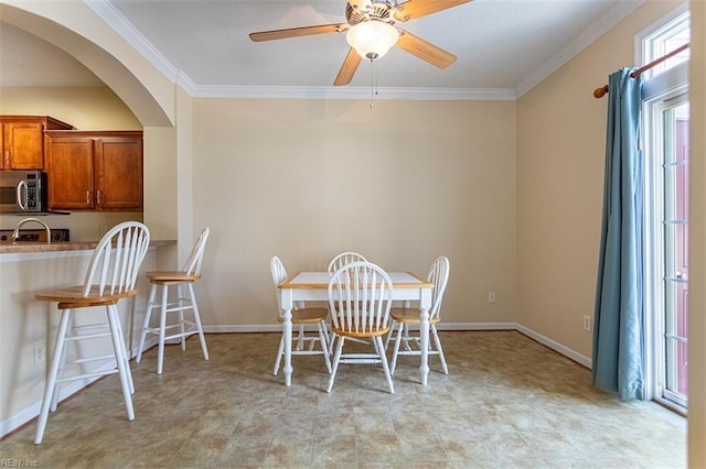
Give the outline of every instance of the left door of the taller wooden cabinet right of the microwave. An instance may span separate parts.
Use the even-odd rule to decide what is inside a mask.
[[[90,209],[94,204],[94,145],[88,138],[47,139],[49,208]]]

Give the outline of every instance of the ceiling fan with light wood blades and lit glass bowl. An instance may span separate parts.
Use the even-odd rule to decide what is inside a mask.
[[[299,37],[313,34],[346,32],[351,48],[333,85],[347,85],[363,58],[376,61],[396,45],[403,51],[438,67],[446,68],[456,61],[456,55],[397,28],[396,23],[426,17],[472,0],[347,0],[345,23],[320,24],[286,30],[250,33],[255,42]]]

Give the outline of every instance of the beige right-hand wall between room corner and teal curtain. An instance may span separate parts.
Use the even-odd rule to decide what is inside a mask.
[[[634,35],[677,8],[650,1],[517,101],[517,321],[590,357],[608,97]]]

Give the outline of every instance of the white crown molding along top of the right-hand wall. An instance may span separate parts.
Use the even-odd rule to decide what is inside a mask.
[[[520,98],[537,86],[542,80],[559,69],[564,64],[592,44],[598,37],[610,31],[616,24],[620,23],[625,17],[635,11],[644,2],[645,0],[619,1],[596,23],[584,30],[578,36],[567,43],[556,55],[542,64],[531,73],[527,78],[520,83],[515,88],[516,96]]]

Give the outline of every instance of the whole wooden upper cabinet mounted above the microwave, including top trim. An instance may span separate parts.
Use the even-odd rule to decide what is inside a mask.
[[[0,170],[44,170],[44,131],[73,129],[46,116],[0,116]]]

